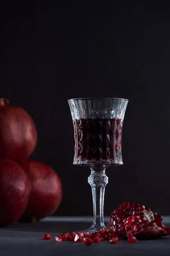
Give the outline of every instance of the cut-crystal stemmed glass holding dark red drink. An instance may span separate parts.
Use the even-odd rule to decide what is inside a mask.
[[[122,165],[122,126],[127,99],[79,98],[68,100],[74,125],[74,165],[89,166],[88,183],[92,188],[94,221],[88,231],[105,227],[103,203],[108,166]]]

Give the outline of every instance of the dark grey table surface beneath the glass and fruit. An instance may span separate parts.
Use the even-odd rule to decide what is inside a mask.
[[[82,243],[63,241],[56,243],[55,236],[63,232],[73,232],[90,227],[91,218],[46,218],[38,223],[15,223],[0,228],[0,256],[170,256],[170,236],[155,240],[141,240],[129,244],[125,240],[118,244],[109,241],[85,246]],[[108,218],[105,218],[107,223]],[[164,218],[164,224],[170,227],[170,217]],[[42,240],[50,233],[51,240]]]

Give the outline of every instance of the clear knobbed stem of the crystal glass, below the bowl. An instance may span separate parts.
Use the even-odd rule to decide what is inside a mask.
[[[91,168],[91,175],[88,177],[88,183],[92,188],[94,221],[90,229],[99,231],[105,227],[103,220],[103,204],[105,195],[105,186],[108,183],[108,177],[105,174],[105,166],[95,166]]]

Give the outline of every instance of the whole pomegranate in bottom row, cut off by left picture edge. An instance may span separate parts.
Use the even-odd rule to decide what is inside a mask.
[[[21,166],[0,159],[0,226],[17,221],[26,209],[31,183]]]

